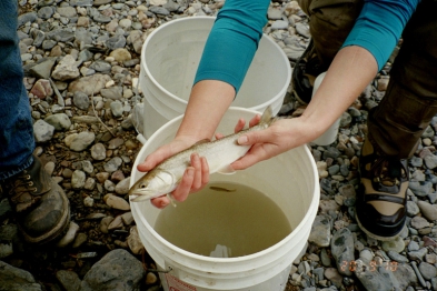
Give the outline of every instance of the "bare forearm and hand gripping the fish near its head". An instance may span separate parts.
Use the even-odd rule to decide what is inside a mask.
[[[176,138],[148,155],[145,162],[138,165],[138,170],[150,171],[163,159],[187,149],[197,141],[211,139],[235,94],[234,87],[222,81],[205,80],[196,83]],[[193,154],[191,167],[187,168],[182,181],[172,195],[176,200],[182,201],[187,199],[189,192],[201,189],[208,181],[209,168],[206,159]],[[163,208],[169,200],[167,197],[161,197],[153,199],[152,203]]]

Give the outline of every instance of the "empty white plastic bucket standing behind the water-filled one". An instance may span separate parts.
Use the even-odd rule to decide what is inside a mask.
[[[171,20],[146,39],[139,86],[145,96],[143,136],[185,112],[213,17]],[[285,52],[269,37],[260,40],[232,106],[279,112],[291,78]]]

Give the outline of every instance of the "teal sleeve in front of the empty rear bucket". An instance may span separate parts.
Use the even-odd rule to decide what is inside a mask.
[[[208,36],[196,73],[201,80],[220,80],[236,92],[258,49],[270,0],[226,0]]]

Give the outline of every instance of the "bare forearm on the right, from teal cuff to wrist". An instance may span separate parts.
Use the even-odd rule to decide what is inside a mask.
[[[341,49],[329,67],[302,121],[312,124],[315,138],[324,133],[360,96],[378,71],[374,56],[360,47]]]

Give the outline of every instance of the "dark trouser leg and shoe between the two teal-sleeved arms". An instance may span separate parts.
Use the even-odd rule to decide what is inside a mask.
[[[302,103],[309,103],[314,81],[325,72],[345,42],[362,9],[362,0],[298,0],[309,17],[311,41],[296,61],[292,90]]]

